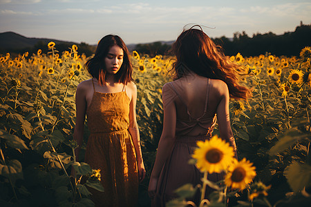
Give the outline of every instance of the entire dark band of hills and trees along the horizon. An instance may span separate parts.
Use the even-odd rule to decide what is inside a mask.
[[[244,31],[234,33],[233,38],[225,36],[212,39],[216,44],[222,46],[225,55],[236,55],[240,52],[243,56],[257,56],[269,52],[276,56],[299,56],[299,52],[305,46],[311,46],[311,24],[305,25],[301,22],[293,32],[284,34],[253,34],[249,37]],[[84,53],[86,57],[94,54],[96,46],[87,43],[75,43],[73,41],[61,41],[57,39],[29,38],[15,32],[0,33],[0,54],[10,52],[11,55],[29,52],[30,54],[41,49],[48,52],[47,43],[54,41],[59,53],[68,50],[73,44],[77,45],[79,54]],[[129,44],[129,51],[138,51],[140,54],[147,54],[151,57],[155,55],[169,55],[168,51],[174,41],[155,41],[151,43]]]

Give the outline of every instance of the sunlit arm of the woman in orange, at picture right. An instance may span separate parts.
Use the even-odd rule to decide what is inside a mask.
[[[133,144],[135,147],[136,157],[138,161],[138,175],[140,181],[144,179],[146,170],[144,169],[144,161],[142,160],[142,149],[140,147],[140,131],[136,121],[136,101],[137,101],[137,88],[134,83],[130,83],[131,88],[131,103],[129,110],[129,133],[133,138]]]

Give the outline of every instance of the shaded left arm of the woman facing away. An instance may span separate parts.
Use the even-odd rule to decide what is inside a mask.
[[[153,170],[151,172],[151,178],[149,181],[149,196],[153,197],[156,194],[156,186],[158,184],[158,177],[164,166],[171,148],[175,141],[176,133],[176,106],[172,99],[171,91],[166,84],[162,88],[162,100],[163,100],[163,130],[158,144],[158,152],[156,155],[156,161],[154,162]]]

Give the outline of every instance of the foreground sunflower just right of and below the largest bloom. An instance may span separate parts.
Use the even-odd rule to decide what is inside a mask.
[[[234,159],[225,177],[225,184],[243,190],[256,176],[255,169],[252,163],[245,158],[241,161]]]

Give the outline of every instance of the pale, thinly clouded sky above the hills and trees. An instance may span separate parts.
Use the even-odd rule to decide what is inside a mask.
[[[200,24],[209,37],[252,37],[310,24],[310,11],[310,0],[0,0],[0,32],[88,44],[117,34],[131,44],[173,41]]]

